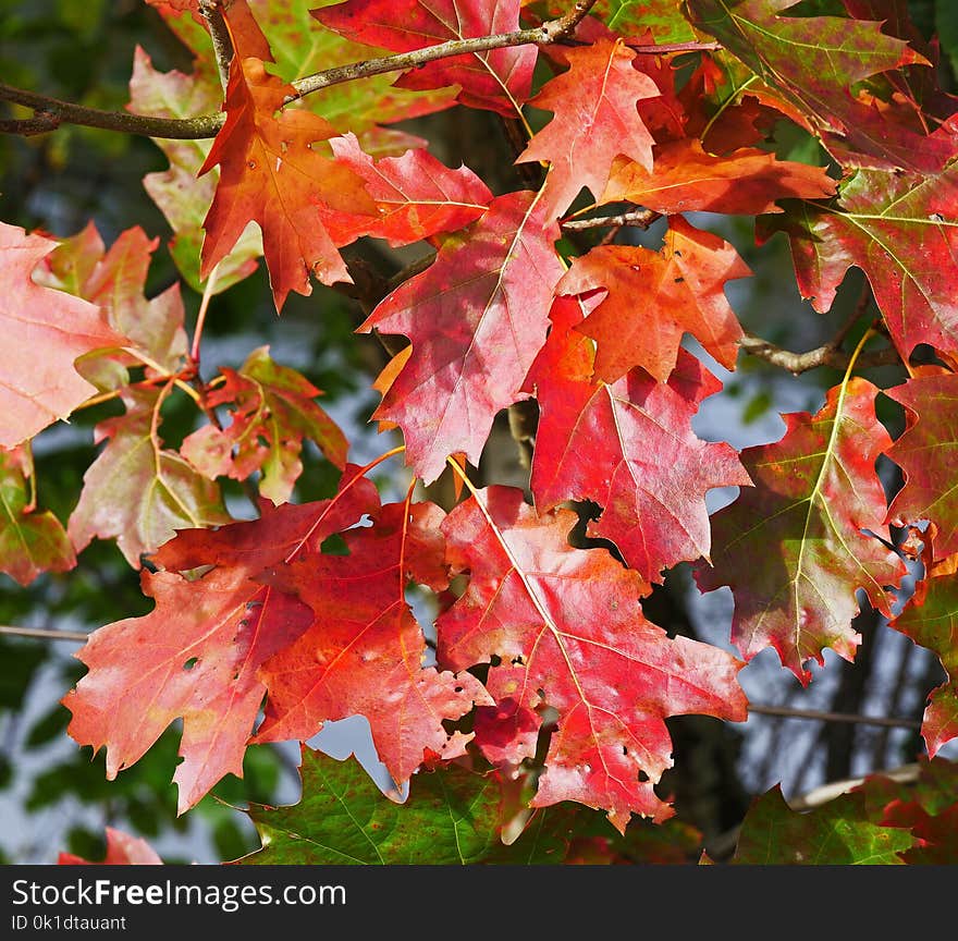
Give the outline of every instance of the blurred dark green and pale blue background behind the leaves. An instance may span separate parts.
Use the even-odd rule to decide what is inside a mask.
[[[840,8],[840,2],[803,0],[800,4],[807,13],[828,12],[834,7]],[[954,90],[958,4],[912,0],[908,7],[926,38],[938,35],[941,82],[946,90]],[[137,45],[160,71],[191,71],[189,52],[142,0],[0,0],[0,75],[11,85],[122,110],[128,100]],[[26,114],[5,106],[4,110],[0,117]],[[468,163],[495,192],[526,185],[509,166],[511,150],[498,119],[488,112],[457,108],[401,126],[429,139],[430,149],[450,166]],[[791,159],[814,161],[821,156],[814,140],[784,129],[771,146]],[[73,235],[93,219],[108,246],[125,229],[140,225],[147,235],[161,240],[147,283],[146,294],[152,297],[179,280],[165,247],[169,227],[142,185],[146,173],[165,168],[167,159],[145,137],[74,126],[33,137],[0,135],[0,219],[56,237]],[[835,309],[820,316],[797,294],[782,236],[757,247],[752,219],[708,220],[708,228],[720,227],[756,276],[728,289],[747,329],[798,351],[833,335],[858,300],[858,272],[843,286]],[[653,228],[641,240],[656,245],[660,235],[661,228]],[[588,244],[574,247],[581,250]],[[364,250],[373,249],[364,246]],[[381,253],[372,260],[382,267],[384,277],[403,264]],[[189,329],[199,297],[185,283],[183,294]],[[315,283],[311,297],[291,295],[279,318],[260,266],[255,276],[217,296],[204,334],[204,372],[208,378],[220,366],[238,367],[254,347],[270,344],[277,362],[299,369],[326,392],[322,404],[354,441],[353,460],[369,460],[389,447],[368,424],[379,398],[370,381],[383,365],[384,354],[371,338],[353,333],[363,316],[357,306]],[[740,357],[735,374],[720,375],[725,389],[705,403],[697,430],[737,448],[776,440],[783,428],[777,413],[815,411],[824,390],[840,378],[826,368],[793,377],[747,356]],[[887,387],[901,377],[888,367],[870,378]],[[883,419],[897,433],[900,424],[896,428],[895,423],[900,423],[900,415],[887,400],[883,407]],[[69,425],[38,437],[35,459],[40,501],[60,520],[65,521],[75,505],[83,473],[97,453],[94,426],[118,411],[115,402],[86,408]],[[179,444],[195,423],[195,410],[187,400],[172,400],[164,413],[164,439]],[[297,501],[326,496],[334,485],[326,462],[310,460],[317,453],[306,455],[306,469],[294,496]],[[514,482],[503,479],[509,474],[521,479],[504,420],[490,441],[481,471],[500,482]],[[894,480],[888,486],[894,487]],[[238,486],[228,488],[228,500],[237,516],[249,514]],[[87,632],[144,614],[150,607],[139,590],[137,574],[112,542],[95,540],[81,554],[76,570],[45,575],[25,589],[0,574],[3,625]],[[648,609],[653,621],[673,633],[727,643],[729,598],[723,592],[699,597],[688,566],[676,566],[670,573]],[[928,692],[942,681],[939,664],[883,627],[873,612],[865,611],[861,622],[865,643],[853,667],[831,659],[812,687],[801,691],[777,662],[760,657],[749,667],[756,677],[747,689],[750,697],[786,706],[920,718]],[[243,780],[222,781],[194,810],[177,818],[170,782],[177,760],[179,729],[168,730],[145,758],[113,782],[106,780],[102,754],[91,760],[89,749],[77,748],[65,735],[70,717],[59,699],[83,675],[82,664],[72,657],[77,647],[76,643],[0,636],[0,815],[4,820],[0,861],[51,863],[61,850],[100,858],[107,824],[150,840],[168,861],[216,863],[255,848],[258,840],[253,828],[233,807],[249,801],[295,801],[297,751],[250,748]],[[679,816],[707,836],[721,836],[734,827],[751,795],[776,782],[783,782],[786,795],[801,793],[825,780],[912,761],[922,751],[920,738],[910,730],[764,716],[753,716],[746,729],[702,717],[679,717],[670,720],[670,728],[676,769],[663,781],[663,793],[672,791]]]

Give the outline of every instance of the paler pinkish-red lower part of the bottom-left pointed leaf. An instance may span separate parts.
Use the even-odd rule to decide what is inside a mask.
[[[213,570],[191,582],[144,572],[156,599],[144,618],[95,631],[76,655],[88,668],[63,705],[67,733],[94,751],[107,748],[107,778],[139,760],[174,719],[183,719],[173,780],[179,811],[193,807],[224,774],[243,777],[243,756],[266,692],[260,664],[312,620],[297,599],[243,573]]]

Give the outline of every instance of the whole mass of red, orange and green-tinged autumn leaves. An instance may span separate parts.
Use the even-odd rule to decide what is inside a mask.
[[[152,5],[191,45],[196,72],[158,73],[137,50],[131,108],[201,114],[217,81],[201,11],[191,0]],[[602,808],[619,830],[632,814],[664,820],[672,808],[654,790],[672,760],[664,720],[744,721],[737,674],[770,646],[806,683],[825,649],[852,659],[857,590],[891,615],[906,574],[889,523],[929,522],[923,561],[941,577],[894,623],[950,672],[954,99],[929,85],[907,24],[882,32],[870,3],[848,0],[847,19],[779,15],[787,0],[651,5],[652,32],[641,9],[603,22],[597,4],[569,41],[426,61],[386,84],[393,97],[371,85],[369,100],[339,114],[334,85],[288,103],[299,93],[277,50],[291,36],[305,47],[308,28],[318,48],[361,61],[369,46],[408,52],[515,30],[518,0],[347,0],[311,19],[292,2],[222,4],[234,50],[225,121],[209,148],[159,142],[171,166],[145,185],[205,303],[260,250],[280,310],[291,291],[310,293],[312,277],[348,282],[339,248],[359,237],[434,249],[359,328],[410,341],[377,380],[372,416],[402,431],[414,475],[405,500],[381,503],[367,476],[393,453],[349,463],[319,390],[268,350],[194,381],[179,288],[143,295],[157,242],[142,231],[107,250],[93,227],[57,242],[2,227],[3,317],[24,356],[4,356],[0,392],[3,487],[19,494],[5,501],[4,531],[20,547],[0,543],[0,562],[26,583],[71,569],[93,538],[116,539],[135,567],[150,561],[142,579],[153,611],[96,631],[78,655],[88,672],[64,698],[70,734],[106,747],[109,777],[182,719],[183,811],[242,774],[250,742],[305,741],[353,714],[369,720],[396,782],[466,755],[508,777],[537,759],[548,722],[533,806]],[[656,41],[677,51],[656,53]],[[689,48],[695,61],[680,71]],[[533,96],[537,65],[554,77]],[[467,167],[384,126],[456,105],[543,115],[517,159],[548,169],[542,187],[493,195]],[[761,147],[781,120],[818,136],[842,179]],[[584,187],[592,201],[574,208]],[[666,217],[661,249],[557,250],[569,222],[629,207]],[[862,268],[902,362],[928,344],[943,365],[909,367],[889,390],[849,368],[816,415],[786,416],[781,441],[740,454],[700,440],[691,419],[721,383],[681,341],[691,334],[734,369],[742,331],[724,286],[751,272],[685,215],[697,211],[762,217],[762,239],[786,232],[799,289],[820,310],[848,268]],[[26,356],[38,344],[42,370]],[[875,415],[882,391],[908,415],[895,442]],[[174,394],[200,414],[225,410],[229,424],[204,421],[165,448],[161,407]],[[125,412],[98,426],[106,447],[64,530],[30,499],[24,442],[91,395],[119,396]],[[476,490],[463,471],[479,463],[496,415],[528,398],[539,412],[531,504],[516,488]],[[342,468],[341,482],[330,499],[288,502],[306,439]],[[906,477],[891,508],[875,472],[883,454]],[[464,499],[449,513],[417,502],[415,482],[447,467]],[[260,515],[232,521],[217,480],[255,475]],[[710,520],[705,493],[726,486],[740,496]],[[589,535],[611,540],[625,565],[569,545],[567,501],[580,500],[601,506]],[[323,551],[333,536],[345,549]],[[732,587],[742,659],[670,638],[643,616],[642,598],[679,562],[695,563],[702,590]],[[426,628],[410,583],[434,602]],[[933,697],[931,754],[958,734],[955,695],[949,681]]]

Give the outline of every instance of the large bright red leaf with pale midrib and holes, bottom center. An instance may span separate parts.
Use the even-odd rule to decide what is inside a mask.
[[[511,748],[498,743],[500,759],[531,758],[542,708],[556,710],[533,806],[577,801],[606,810],[624,831],[632,812],[672,816],[653,790],[672,765],[665,718],[745,720],[744,664],[647,621],[640,598],[649,586],[604,549],[569,546],[575,522],[567,510],[538,516],[509,487],[458,504],[442,528],[469,584],[437,621],[437,656],[453,670],[495,664],[487,679],[499,704],[492,718],[529,730]]]

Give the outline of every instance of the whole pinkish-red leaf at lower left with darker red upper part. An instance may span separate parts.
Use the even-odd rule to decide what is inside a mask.
[[[73,713],[69,734],[95,751],[106,746],[108,779],[137,761],[177,718],[181,814],[224,774],[242,777],[266,694],[259,668],[312,623],[306,603],[255,579],[318,551],[326,537],[378,505],[374,487],[357,481],[356,468],[343,479],[331,500],[278,508],[263,501],[259,520],[181,531],[153,557],[165,571],[142,575],[156,608],[90,635],[76,655],[88,672],[63,704]]]

